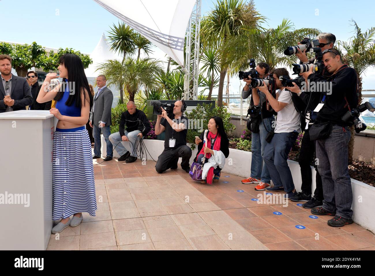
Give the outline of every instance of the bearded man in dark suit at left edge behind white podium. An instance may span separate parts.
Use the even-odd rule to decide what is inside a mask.
[[[14,76],[11,72],[12,58],[0,55],[0,113],[26,110],[26,106],[33,103],[26,79]]]

